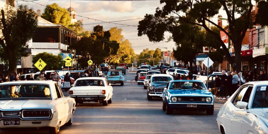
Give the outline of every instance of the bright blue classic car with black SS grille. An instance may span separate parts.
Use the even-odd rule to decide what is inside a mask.
[[[173,110],[201,110],[214,113],[214,97],[203,82],[197,80],[173,80],[162,94],[162,109],[166,114]]]

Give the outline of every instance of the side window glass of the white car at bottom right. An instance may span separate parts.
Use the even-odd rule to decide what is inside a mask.
[[[237,107],[237,102],[238,101],[244,101],[248,103],[250,94],[252,91],[252,86],[249,87],[243,87],[240,89],[238,95],[236,96],[236,99],[234,100],[233,104]]]

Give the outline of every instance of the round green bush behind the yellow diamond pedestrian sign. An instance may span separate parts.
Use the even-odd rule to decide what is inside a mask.
[[[60,54],[58,56],[49,54],[47,52],[36,54],[36,56],[33,58],[33,64],[35,64],[39,58],[41,58],[47,66],[45,66],[45,70],[60,70],[61,66],[64,65],[64,61],[62,61],[62,57]]]

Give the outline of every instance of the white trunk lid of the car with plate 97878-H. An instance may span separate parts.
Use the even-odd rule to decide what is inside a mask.
[[[50,109],[52,100],[0,100],[1,111],[18,111],[21,109]]]

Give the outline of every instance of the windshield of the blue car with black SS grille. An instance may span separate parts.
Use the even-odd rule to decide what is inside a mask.
[[[169,89],[200,89],[206,90],[203,82],[172,82]]]

